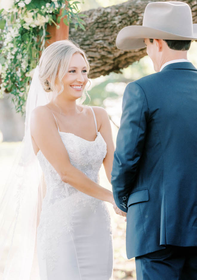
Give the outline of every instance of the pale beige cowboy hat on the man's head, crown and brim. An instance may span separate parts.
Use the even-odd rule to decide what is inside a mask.
[[[124,27],[118,33],[116,46],[120,50],[146,47],[144,38],[196,40],[197,24],[193,24],[190,6],[183,2],[152,2],[144,11],[142,25]]]

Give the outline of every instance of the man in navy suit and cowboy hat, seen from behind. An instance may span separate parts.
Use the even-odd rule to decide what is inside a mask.
[[[197,39],[188,4],[152,2],[142,26],[124,27],[121,50],[147,47],[158,73],[127,85],[118,131],[113,195],[127,212],[127,258],[137,280],[197,279]]]

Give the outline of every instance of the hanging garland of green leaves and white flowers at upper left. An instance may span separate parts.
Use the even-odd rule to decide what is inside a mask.
[[[82,0],[83,1],[83,0]],[[33,70],[44,51],[45,40],[49,39],[46,32],[47,24],[55,24],[59,29],[62,17],[64,24],[75,22],[85,29],[85,22],[79,16],[79,1],[65,0],[6,0],[0,7],[0,98],[4,93],[12,95],[16,112],[25,112],[25,101]],[[56,15],[62,10],[61,16]]]

